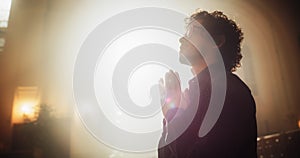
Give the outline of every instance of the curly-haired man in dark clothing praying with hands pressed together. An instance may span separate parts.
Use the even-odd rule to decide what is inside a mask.
[[[209,42],[210,38],[201,25],[215,43]],[[180,39],[180,62],[190,65],[195,77],[183,93],[177,72],[170,70],[165,80],[160,81],[165,120],[159,142],[159,158],[256,157],[255,102],[246,84],[232,73],[240,66],[242,40],[241,29],[222,12],[198,11],[188,19],[187,33]],[[210,74],[210,69],[222,63],[216,55],[217,50],[221,53],[226,71],[225,101],[214,126],[206,135],[199,136],[211,102],[212,84],[223,83],[221,75]],[[195,83],[198,83],[198,89]],[[190,116],[194,105],[197,110],[191,123],[175,138],[177,128]],[[172,136],[175,140],[168,142]]]

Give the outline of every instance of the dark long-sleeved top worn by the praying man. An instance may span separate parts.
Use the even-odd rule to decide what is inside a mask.
[[[247,85],[239,77],[227,72],[227,89],[223,110],[211,131],[202,138],[198,137],[198,131],[205,117],[211,98],[211,77],[208,68],[199,73],[189,82],[191,101],[195,94],[200,95],[195,117],[188,128],[172,143],[164,146],[166,131],[168,135],[176,135],[176,126],[183,124],[182,120],[189,115],[190,107],[182,114],[173,117],[168,112],[167,121],[172,121],[168,127],[164,126],[164,132],[160,139],[158,149],[159,158],[254,158],[256,155],[256,108],[255,101]],[[218,78],[216,78],[218,80]],[[199,83],[199,89],[195,88],[195,81]],[[200,93],[198,92],[200,91]],[[166,122],[164,122],[166,124]]]

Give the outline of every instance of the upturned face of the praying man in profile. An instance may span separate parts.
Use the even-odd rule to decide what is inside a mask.
[[[187,26],[184,37],[180,38],[180,62],[186,65],[194,65],[203,57],[199,50],[207,50],[211,44],[201,20],[194,20]]]

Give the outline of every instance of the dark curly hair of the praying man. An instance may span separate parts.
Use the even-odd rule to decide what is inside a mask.
[[[235,71],[241,66],[241,42],[244,39],[243,32],[237,24],[229,19],[221,11],[207,12],[197,10],[188,19],[189,24],[193,20],[201,20],[203,27],[212,38],[216,35],[224,35],[225,43],[219,48],[227,71]]]

